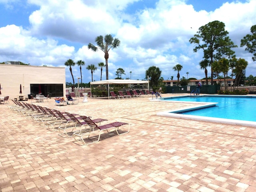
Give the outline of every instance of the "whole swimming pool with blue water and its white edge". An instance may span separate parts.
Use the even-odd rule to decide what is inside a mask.
[[[157,114],[160,116],[178,116],[181,118],[256,126],[255,96],[177,96],[162,98],[161,100],[164,102],[202,104],[202,106],[160,112]]]

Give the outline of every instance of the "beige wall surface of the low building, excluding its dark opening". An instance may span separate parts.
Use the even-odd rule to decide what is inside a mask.
[[[66,94],[65,67],[47,67],[30,65],[0,64],[0,84],[3,96],[10,99],[20,95],[28,97],[30,84],[63,84],[63,95]]]

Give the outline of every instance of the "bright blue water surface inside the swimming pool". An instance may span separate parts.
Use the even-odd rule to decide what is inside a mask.
[[[190,110],[180,113],[196,116],[256,122],[256,97],[184,96],[176,98],[166,98],[164,100],[187,102],[218,102],[218,104],[213,107]]]

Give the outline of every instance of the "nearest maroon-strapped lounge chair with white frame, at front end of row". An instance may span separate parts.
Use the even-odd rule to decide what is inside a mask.
[[[86,132],[83,134],[83,136],[87,136],[86,139],[89,140],[89,142],[85,142],[85,140],[82,139],[82,141],[84,142],[84,145],[98,142],[100,140],[100,135],[102,134],[103,131],[107,131],[107,132],[116,131],[118,135],[126,134],[130,131],[130,125],[124,122],[113,122],[113,123],[98,126],[93,120],[91,120],[90,117],[86,117],[84,118],[84,120],[88,124],[88,126],[90,126],[89,132]],[[124,125],[128,125],[128,130],[127,131],[119,130],[119,127]],[[110,130],[114,130],[114,131],[110,131]],[[98,134],[98,139],[92,140],[93,137],[92,136],[90,137],[91,134],[93,135]]]

